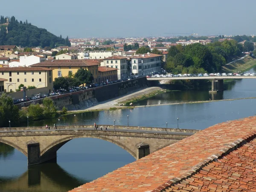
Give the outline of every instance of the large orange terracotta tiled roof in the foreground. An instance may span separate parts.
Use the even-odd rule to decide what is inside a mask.
[[[255,137],[256,116],[220,123],[72,192],[255,191]]]

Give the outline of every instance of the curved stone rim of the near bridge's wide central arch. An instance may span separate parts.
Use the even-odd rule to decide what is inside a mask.
[[[96,135],[75,135],[75,136],[71,136],[71,137],[62,138],[60,140],[57,140],[57,141],[51,143],[46,148],[44,148],[40,153],[41,157],[44,154],[47,154],[53,148],[55,151],[58,151],[58,149],[61,148],[65,143],[69,142],[70,140],[76,139],[76,138],[94,138],[94,139],[105,140],[110,143],[116,144],[117,146],[123,148],[125,151],[127,151],[129,154],[131,154],[135,159],[137,158],[136,153],[134,151],[132,151],[131,149],[129,149],[128,147],[126,147],[125,145],[123,145],[122,143],[119,143],[115,140],[112,140],[112,139],[109,139],[106,137],[101,137],[101,136],[96,136]]]

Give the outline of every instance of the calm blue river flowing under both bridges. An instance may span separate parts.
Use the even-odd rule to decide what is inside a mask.
[[[255,72],[256,68],[250,70]],[[256,97],[256,81],[242,79],[226,85],[214,99]],[[153,105],[175,102],[203,101],[212,98],[208,90],[189,90],[164,93],[137,103]],[[219,122],[256,114],[256,99],[217,101],[180,105],[161,105],[115,111],[77,113],[77,124],[108,124],[204,129]],[[74,115],[60,118],[60,125],[74,125]],[[29,122],[30,126],[53,125],[58,119]],[[26,126],[26,125],[24,125]],[[71,140],[57,152],[57,163],[27,167],[27,159],[20,151],[0,143],[0,192],[66,192],[90,182],[135,159],[124,149],[104,140],[79,138]]]

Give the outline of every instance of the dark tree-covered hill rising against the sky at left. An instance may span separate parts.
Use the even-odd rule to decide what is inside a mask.
[[[18,22],[14,16],[0,17],[0,45],[17,45],[20,47],[58,47],[70,46],[66,39],[57,37],[46,29],[33,26],[31,23]]]

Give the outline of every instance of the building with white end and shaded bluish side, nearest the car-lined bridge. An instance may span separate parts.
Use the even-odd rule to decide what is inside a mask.
[[[131,72],[137,76],[146,76],[161,71],[162,55],[147,53],[131,58]]]

